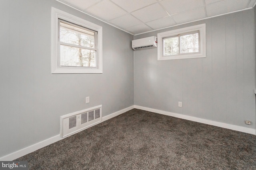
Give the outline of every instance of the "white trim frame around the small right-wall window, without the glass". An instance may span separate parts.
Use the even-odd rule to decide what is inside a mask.
[[[157,60],[175,60],[175,59],[192,59],[206,57],[206,28],[205,23],[200,25],[194,25],[191,27],[185,27],[180,29],[175,29],[171,31],[166,31],[157,34],[158,46],[157,46]],[[193,54],[180,54],[180,55],[163,55],[163,38],[176,36],[182,33],[189,33],[192,31],[199,31],[199,42],[200,42],[200,52]]]

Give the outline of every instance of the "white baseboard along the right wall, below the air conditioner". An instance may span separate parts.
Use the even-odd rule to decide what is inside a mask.
[[[180,119],[186,119],[186,120],[195,121],[195,122],[199,122],[199,123],[204,123],[204,124],[208,124],[208,125],[218,126],[218,127],[222,127],[222,128],[225,128],[225,129],[231,129],[231,130],[234,130],[234,131],[240,131],[240,132],[250,133],[250,134],[256,135],[256,129],[252,129],[252,128],[248,128],[248,127],[230,125],[230,124],[227,124],[227,123],[221,123],[221,122],[217,122],[217,121],[201,119],[201,118],[197,118],[197,117],[182,115],[182,114],[178,114],[178,113],[172,113],[172,112],[168,112],[168,111],[162,111],[162,110],[158,110],[158,109],[151,109],[151,108],[148,108],[148,107],[142,107],[142,106],[134,105],[134,108],[141,109],[141,110],[146,110],[146,111],[151,111],[151,112],[154,112],[154,113],[159,113],[159,114],[162,114],[162,115],[177,117],[177,118],[180,118]]]

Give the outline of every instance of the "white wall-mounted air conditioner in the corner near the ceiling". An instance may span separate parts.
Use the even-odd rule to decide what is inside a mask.
[[[157,47],[156,36],[132,40],[132,49],[134,50],[151,49],[156,47]]]

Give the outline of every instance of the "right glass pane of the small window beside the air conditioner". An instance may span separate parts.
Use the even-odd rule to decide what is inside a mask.
[[[180,36],[180,53],[199,52],[198,33]]]

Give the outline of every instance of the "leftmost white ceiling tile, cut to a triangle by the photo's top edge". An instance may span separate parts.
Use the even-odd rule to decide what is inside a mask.
[[[60,0],[62,2],[66,2],[67,4],[74,6],[80,10],[85,10],[86,8],[100,2],[101,0],[86,0],[86,3],[84,3],[84,0]]]

